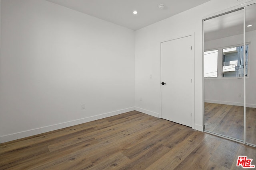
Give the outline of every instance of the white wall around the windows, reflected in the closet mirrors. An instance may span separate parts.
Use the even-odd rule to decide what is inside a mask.
[[[246,32],[249,44],[248,77],[246,77],[246,106],[256,108],[256,31]],[[243,35],[234,35],[222,39],[207,41],[205,49],[217,49],[243,44]],[[241,93],[241,97],[238,96]],[[205,78],[204,97],[206,102],[244,106],[244,80],[242,78]]]

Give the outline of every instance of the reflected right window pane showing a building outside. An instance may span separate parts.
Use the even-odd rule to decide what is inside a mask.
[[[246,45],[246,76],[248,66],[248,45]],[[223,77],[244,76],[244,46],[223,49]]]

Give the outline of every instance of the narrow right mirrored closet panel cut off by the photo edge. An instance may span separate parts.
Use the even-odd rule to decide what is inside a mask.
[[[245,7],[246,143],[256,145],[256,4]]]

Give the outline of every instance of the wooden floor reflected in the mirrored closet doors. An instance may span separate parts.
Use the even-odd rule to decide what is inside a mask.
[[[244,140],[244,107],[204,104],[205,130]],[[246,141],[256,145],[256,108],[246,107]]]

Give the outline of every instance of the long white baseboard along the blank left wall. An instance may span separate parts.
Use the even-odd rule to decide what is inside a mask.
[[[62,129],[62,128],[65,128],[65,127],[79,125],[81,123],[86,123],[86,122],[89,122],[89,121],[94,121],[94,120],[102,119],[102,118],[105,118],[105,117],[110,117],[110,116],[118,115],[118,114],[121,114],[121,113],[126,113],[126,112],[133,111],[133,110],[135,110],[135,107],[130,107],[130,108],[126,108],[126,109],[121,109],[121,110],[117,110],[117,111],[112,111],[112,112],[103,113],[103,114],[100,114],[100,115],[85,117],[85,118],[82,118],[82,119],[76,119],[76,120],[73,120],[73,121],[58,123],[58,124],[55,124],[55,125],[40,127],[40,128],[36,128],[36,129],[30,129],[28,131],[22,131],[22,132],[18,132],[18,133],[9,134],[9,135],[4,135],[4,136],[0,137],[0,143],[13,141],[13,140],[16,140],[16,139],[21,139],[21,138],[29,137],[29,136],[33,136],[33,135],[38,135],[40,133],[54,131],[54,130]]]

